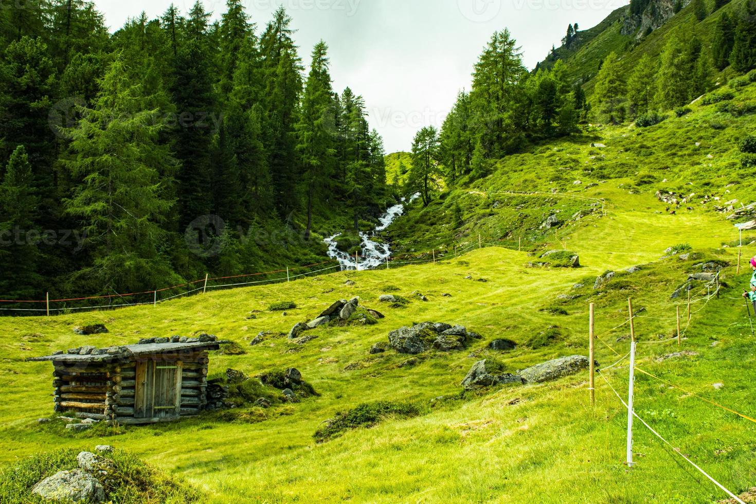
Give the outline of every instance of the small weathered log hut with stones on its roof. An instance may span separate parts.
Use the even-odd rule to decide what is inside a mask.
[[[53,363],[57,413],[120,424],[169,422],[205,409],[208,351],[225,343],[209,335],[144,339],[29,360]]]

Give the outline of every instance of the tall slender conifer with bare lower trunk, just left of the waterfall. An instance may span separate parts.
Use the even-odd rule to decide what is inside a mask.
[[[299,123],[296,125],[296,150],[302,165],[302,187],[306,195],[305,240],[310,239],[314,200],[326,189],[336,156],[336,117],[327,52],[328,46],[322,40],[312,51],[310,75],[302,95]]]

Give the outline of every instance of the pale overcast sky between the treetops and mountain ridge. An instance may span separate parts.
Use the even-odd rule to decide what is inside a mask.
[[[171,0],[95,0],[110,30],[145,11],[163,14]],[[194,0],[174,0],[187,12]],[[203,0],[213,19],[225,0]],[[365,98],[371,125],[386,151],[409,150],[415,132],[440,127],[457,91],[469,89],[472,65],[496,30],[510,29],[525,65],[535,66],[559,46],[569,23],[587,29],[629,0],[243,0],[258,32],[283,5],[293,17],[299,54],[330,48],[337,90]]]

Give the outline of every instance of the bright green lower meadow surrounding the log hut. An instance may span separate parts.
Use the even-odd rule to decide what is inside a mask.
[[[591,409],[587,373],[544,385],[460,394],[460,380],[482,358],[496,358],[504,369],[516,371],[553,357],[587,354],[590,302],[596,303],[597,332],[620,354],[627,352],[627,326],[607,331],[627,317],[628,296],[640,314],[636,329],[642,341],[671,336],[677,302],[671,292],[687,274],[700,271],[696,264],[717,260],[727,264],[722,274],[727,287],[720,298],[702,299],[705,289],[699,285],[694,291],[696,313],[683,349],[696,354],[658,362],[656,357],[678,351],[677,345],[641,345],[638,366],[702,397],[756,415],[750,400],[756,379],[754,339],[738,298],[749,273],[736,277],[735,250],[722,248],[734,238],[730,222],[711,212],[659,215],[649,194],[631,194],[609,183],[592,190],[607,199],[606,216],[589,215],[544,243],[556,249],[564,243],[578,252],[580,268],[527,267],[532,260],[527,252],[491,247],[437,264],[212,292],[156,308],[2,318],[0,461],[107,443],[180,475],[205,491],[211,502],[722,498],[720,490],[642,427],[636,431],[638,465],[627,471],[627,413],[602,379],[597,383],[597,406]],[[747,238],[753,237],[751,233]],[[683,242],[692,246],[688,260],[662,259],[665,249]],[[743,252],[754,254],[756,247]],[[641,266],[637,273],[624,272],[635,265]],[[593,280],[606,270],[618,275],[594,290]],[[429,301],[417,300],[416,290]],[[378,297],[386,292],[411,303],[406,308],[382,307]],[[272,336],[249,346],[260,331],[286,332],[333,300],[352,296],[382,310],[386,319],[374,326],[315,329],[308,334],[318,338],[306,345]],[[267,310],[284,300],[295,301],[298,308],[286,316]],[[250,311],[259,311],[256,319],[246,319]],[[461,323],[484,340],[466,351],[431,351],[416,360],[393,351],[367,353],[374,343],[385,342],[390,330],[423,320]],[[75,335],[71,328],[80,323],[105,323],[110,334]],[[547,329],[552,339],[542,337]],[[122,344],[197,331],[231,339],[246,349],[242,355],[213,355],[213,376],[227,368],[255,376],[296,366],[320,397],[269,410],[232,410],[169,425],[98,428],[82,434],[36,423],[51,414],[51,366],[26,363],[26,357],[82,344]],[[519,347],[508,353],[488,350],[488,343],[497,338],[513,339]],[[618,359],[602,343],[597,345],[596,358],[603,366]],[[609,370],[606,376],[615,388],[626,390],[627,366]],[[717,390],[715,383],[724,386]],[[749,441],[756,431],[754,423],[648,377],[638,377],[636,392],[640,416],[714,478],[738,492],[756,483],[756,445]],[[373,428],[346,431],[324,443],[314,440],[325,420],[376,400],[413,404],[419,414],[405,418],[389,413]]]

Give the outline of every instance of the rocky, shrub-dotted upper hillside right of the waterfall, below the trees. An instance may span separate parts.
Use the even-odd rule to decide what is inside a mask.
[[[738,112],[756,110],[756,83],[723,85],[712,96],[725,93],[733,99],[717,104],[699,100],[689,107],[691,113],[677,117],[668,112],[650,128],[588,127],[580,135],[500,159],[488,177],[460,181],[426,208],[415,203],[406,218],[389,228],[395,249],[454,252],[455,244],[477,244],[480,236],[486,243],[519,246],[522,240],[523,249],[543,250],[553,246],[549,242],[555,233],[569,233],[584,215],[617,204],[656,212],[659,218],[674,211],[673,220],[714,214],[725,221],[727,213],[714,207],[732,199],[739,201],[737,206],[748,205],[756,193],[756,171],[742,165],[738,147],[756,131],[756,114]],[[679,209],[668,209],[655,200],[657,191],[674,192],[687,201]],[[635,195],[647,197],[628,203]],[[565,225],[542,228],[550,215]]]

